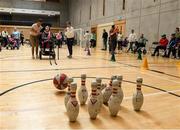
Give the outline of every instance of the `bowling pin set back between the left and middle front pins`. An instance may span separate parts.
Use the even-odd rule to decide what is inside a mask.
[[[81,105],[86,104],[88,91],[86,89],[86,74],[81,75],[81,87],[78,90],[78,98]]]

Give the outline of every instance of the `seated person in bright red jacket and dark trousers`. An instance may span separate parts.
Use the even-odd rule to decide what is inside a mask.
[[[164,51],[166,50],[166,46],[168,44],[168,39],[166,38],[166,35],[162,35],[161,39],[159,41],[159,45],[155,48],[154,53],[152,54],[152,56],[155,56],[155,54],[157,53],[157,56],[159,56],[159,49],[163,49]]]

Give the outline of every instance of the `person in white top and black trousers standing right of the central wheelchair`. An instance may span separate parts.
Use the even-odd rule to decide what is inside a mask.
[[[65,35],[67,37],[67,47],[69,51],[68,58],[72,58],[73,43],[74,43],[74,28],[71,26],[71,22],[67,22],[67,28],[65,29]]]

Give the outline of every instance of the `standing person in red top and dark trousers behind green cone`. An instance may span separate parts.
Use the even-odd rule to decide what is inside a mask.
[[[111,43],[111,52],[112,54],[115,53],[116,46],[117,46],[117,33],[118,29],[115,28],[115,25],[112,25],[112,28],[110,30],[110,43]]]

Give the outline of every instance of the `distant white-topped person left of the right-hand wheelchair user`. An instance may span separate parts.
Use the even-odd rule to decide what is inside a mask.
[[[129,49],[127,50],[127,52],[129,52],[130,50],[131,50],[131,52],[133,52],[133,45],[137,41],[137,35],[134,32],[134,29],[131,30],[131,34],[128,37],[128,41],[129,41],[130,45],[129,45]]]

